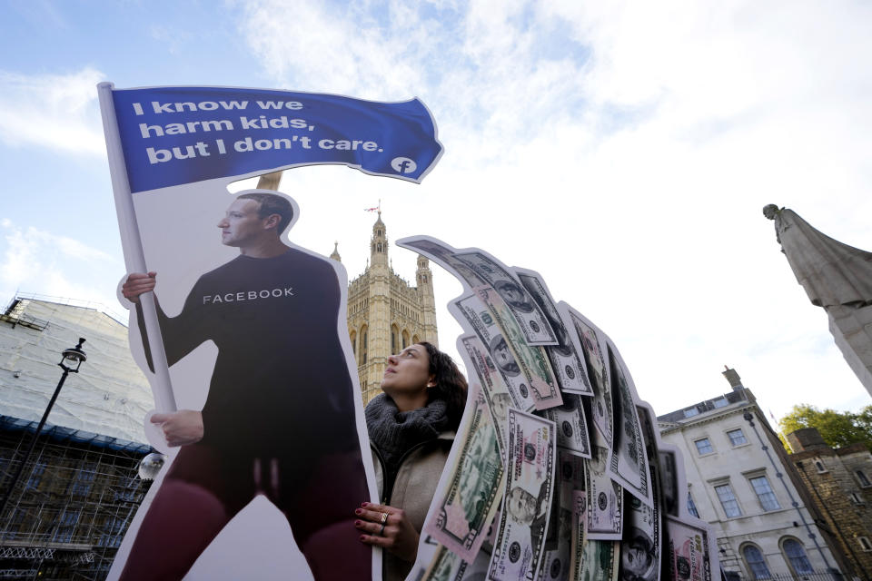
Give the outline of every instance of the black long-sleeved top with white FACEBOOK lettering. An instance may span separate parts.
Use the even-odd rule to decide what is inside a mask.
[[[158,310],[171,366],[206,340],[218,347],[204,443],[273,456],[357,447],[340,298],[329,263],[289,249],[240,255],[204,274],[178,316]]]

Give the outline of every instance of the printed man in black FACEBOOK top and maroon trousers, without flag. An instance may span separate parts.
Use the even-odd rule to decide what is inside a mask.
[[[218,352],[202,412],[151,418],[181,450],[121,579],[182,578],[258,495],[287,518],[315,578],[370,576],[371,550],[352,526],[354,508],[370,497],[356,396],[337,329],[324,324],[340,312],[340,277],[332,261],[282,242],[297,214],[282,195],[243,192],[213,221],[238,254],[203,273],[173,316],[155,293],[171,369],[207,341]],[[131,273],[124,296],[138,305],[161,275]],[[142,320],[137,308],[144,333]]]

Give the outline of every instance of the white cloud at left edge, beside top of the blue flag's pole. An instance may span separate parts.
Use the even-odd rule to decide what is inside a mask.
[[[103,76],[91,67],[71,74],[0,71],[0,140],[11,147],[104,155],[96,88]]]

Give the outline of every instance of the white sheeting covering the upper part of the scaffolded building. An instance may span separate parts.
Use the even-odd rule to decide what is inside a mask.
[[[40,419],[61,377],[61,351],[79,337],[88,360],[66,379],[49,422],[144,443],[154,399],[130,354],[127,326],[104,308],[69,300],[18,296],[0,314],[0,415]]]

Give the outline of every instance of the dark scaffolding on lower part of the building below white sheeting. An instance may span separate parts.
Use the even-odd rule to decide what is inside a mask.
[[[35,422],[0,416],[0,489],[9,486]],[[0,514],[0,579],[104,579],[150,485],[153,449],[46,425]]]

